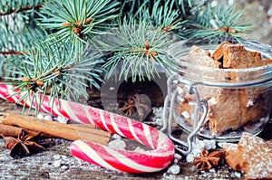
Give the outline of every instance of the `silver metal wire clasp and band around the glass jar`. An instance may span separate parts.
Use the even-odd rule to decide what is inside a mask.
[[[258,86],[271,86],[272,76],[270,72],[269,75],[265,75],[262,79],[257,79],[254,81],[238,81],[238,82],[217,82],[217,81],[189,81],[184,79],[179,74],[175,74],[170,76],[168,79],[168,95],[164,101],[163,107],[163,127],[160,130],[166,130],[168,136],[171,140],[176,142],[176,149],[180,151],[180,153],[184,155],[188,155],[192,150],[192,143],[195,141],[199,129],[203,125],[205,119],[208,116],[208,107],[209,104],[206,99],[200,99],[199,92],[197,90],[197,85],[216,87],[216,88],[230,88],[230,89],[238,89],[238,88],[247,88],[247,87],[258,87]],[[192,129],[189,130],[189,136],[187,142],[180,140],[172,135],[172,123],[174,118],[174,108],[175,108],[175,100],[179,100],[179,85],[182,84],[186,87],[187,92],[190,95],[194,96],[194,100],[191,105],[194,106],[193,116],[190,116],[192,119]],[[199,116],[200,115],[200,116]],[[179,123],[178,123],[179,124]],[[186,150],[181,149],[180,147],[185,147]]]

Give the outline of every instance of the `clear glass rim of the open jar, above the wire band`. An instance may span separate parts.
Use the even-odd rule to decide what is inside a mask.
[[[272,59],[272,46],[250,40],[241,40],[240,42],[239,44],[244,45],[245,49],[260,52],[263,59]],[[205,43],[205,41],[191,39],[171,45],[168,50],[168,55],[180,64],[180,69],[175,72],[186,76],[189,81],[218,87],[245,87],[267,84],[272,86],[272,63],[246,69],[216,69],[199,66],[185,62],[192,45],[197,45],[206,51],[214,51],[219,43],[209,44],[207,42]],[[182,47],[179,48],[179,46]],[[229,81],[228,78],[225,77],[226,74],[237,74],[238,78]]]

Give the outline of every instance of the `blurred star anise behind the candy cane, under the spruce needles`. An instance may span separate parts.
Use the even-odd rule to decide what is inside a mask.
[[[134,94],[129,96],[128,100],[124,102],[124,105],[120,109],[125,112],[127,116],[131,116],[132,114],[138,112],[139,118],[144,118],[145,112],[150,112],[151,109],[144,102],[144,99],[141,99],[139,94]]]

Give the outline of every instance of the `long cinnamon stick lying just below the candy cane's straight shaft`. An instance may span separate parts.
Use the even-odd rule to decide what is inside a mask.
[[[111,137],[111,133],[96,129],[92,125],[63,124],[10,113],[5,114],[0,123],[44,132],[54,137],[62,137],[69,140],[84,139],[102,145],[107,145]]]

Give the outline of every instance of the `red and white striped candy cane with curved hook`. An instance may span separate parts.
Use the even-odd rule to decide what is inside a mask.
[[[13,86],[0,84],[0,98],[17,102],[22,95],[10,96],[14,93]],[[130,138],[151,148],[151,150],[139,153],[76,140],[70,147],[73,156],[98,166],[128,173],[157,172],[170,165],[175,147],[170,138],[160,130],[131,118],[63,99],[54,99],[53,109],[51,109],[49,100],[50,97],[44,97],[41,110],[84,124],[95,124],[103,130]],[[31,105],[29,99],[20,103]]]

